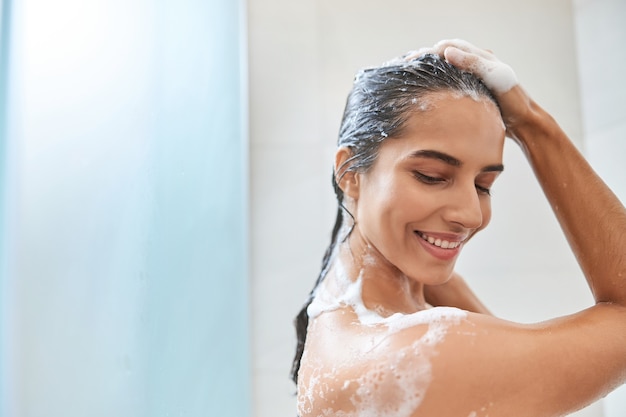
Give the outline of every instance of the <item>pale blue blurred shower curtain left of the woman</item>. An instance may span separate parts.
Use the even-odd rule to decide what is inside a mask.
[[[8,6],[0,415],[249,415],[242,3]]]

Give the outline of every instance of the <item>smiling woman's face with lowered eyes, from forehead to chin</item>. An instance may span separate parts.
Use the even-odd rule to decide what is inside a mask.
[[[399,138],[355,176],[357,234],[408,277],[445,282],[463,244],[491,218],[489,190],[502,171],[504,125],[496,105],[433,93]]]

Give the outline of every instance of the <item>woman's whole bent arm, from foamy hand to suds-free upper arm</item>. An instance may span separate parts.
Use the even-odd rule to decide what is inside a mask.
[[[433,359],[423,415],[454,392],[466,408],[439,415],[470,407],[477,415],[480,408],[489,415],[562,416],[626,381],[626,210],[508,66],[462,41],[436,49],[493,91],[507,134],[534,169],[596,305],[536,325],[470,315]]]

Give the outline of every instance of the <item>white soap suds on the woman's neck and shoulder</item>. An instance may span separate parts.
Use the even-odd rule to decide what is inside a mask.
[[[367,260],[366,260],[367,262]],[[303,363],[312,369],[308,380],[300,381],[298,411],[300,415],[311,415],[316,401],[322,401],[326,408],[321,416],[334,417],[410,417],[421,404],[432,379],[430,358],[436,354],[436,346],[441,343],[452,325],[467,317],[467,313],[451,307],[437,307],[412,314],[395,313],[383,317],[378,312],[365,307],[361,296],[363,279],[359,276],[350,281],[340,264],[336,265],[337,287],[333,291],[322,285],[315,294],[307,310],[309,323],[320,315],[350,307],[358,318],[356,326],[371,329],[368,337],[360,340],[360,345],[352,347],[349,360],[338,361],[328,370],[316,358],[304,352]],[[404,329],[427,325],[426,332],[411,345],[399,350],[386,349],[389,336]],[[364,332],[365,333],[365,332]],[[382,347],[382,348],[381,348]],[[381,356],[381,355],[384,355]],[[371,363],[355,379],[342,378],[341,371],[358,363]],[[319,366],[316,366],[319,364]],[[341,387],[349,393],[350,410],[332,407],[331,399],[340,394],[331,387]]]

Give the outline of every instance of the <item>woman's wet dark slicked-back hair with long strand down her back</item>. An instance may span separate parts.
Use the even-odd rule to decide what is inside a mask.
[[[411,113],[427,109],[427,96],[437,92],[488,98],[497,106],[495,98],[480,79],[462,72],[437,55],[411,58],[407,54],[383,66],[362,70],[354,80],[337,141],[338,147],[350,149],[351,156],[339,167],[339,172],[333,172],[332,177],[339,205],[337,219],[315,286],[294,321],[298,343],[291,378],[296,384],[309,324],[307,308],[330,267],[344,225],[344,212],[352,217],[343,205],[343,191],[338,183],[346,172],[367,171],[376,161],[380,145],[388,138],[401,136]],[[345,238],[347,236],[342,239]]]

